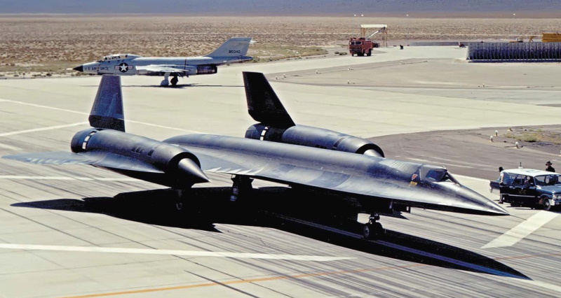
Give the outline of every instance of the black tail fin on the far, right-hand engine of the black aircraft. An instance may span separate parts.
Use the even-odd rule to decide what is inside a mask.
[[[263,73],[244,71],[243,85],[248,112],[255,121],[278,128],[295,126]]]

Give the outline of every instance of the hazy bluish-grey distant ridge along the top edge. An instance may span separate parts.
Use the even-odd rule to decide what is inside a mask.
[[[174,13],[342,15],[347,13],[561,11],[560,0],[0,0],[0,13]]]

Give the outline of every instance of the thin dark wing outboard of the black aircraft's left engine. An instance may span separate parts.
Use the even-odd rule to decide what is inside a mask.
[[[123,157],[107,152],[39,152],[19,155],[7,155],[3,158],[29,162],[31,164],[90,164],[112,169],[140,171],[144,173],[163,173],[151,164],[140,162],[137,159]]]

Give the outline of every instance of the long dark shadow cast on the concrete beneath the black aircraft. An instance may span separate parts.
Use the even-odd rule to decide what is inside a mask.
[[[337,226],[342,225],[340,218],[325,212],[327,208],[324,206],[332,202],[326,202],[325,197],[322,197],[323,204],[303,203],[300,199],[301,194],[294,194],[296,191],[289,187],[261,187],[251,196],[254,199],[258,198],[255,201],[238,199],[236,202],[231,202],[231,187],[197,187],[193,189],[190,197],[199,203],[197,206],[191,206],[194,208],[184,208],[187,209],[184,211],[175,209],[173,190],[123,192],[115,197],[90,197],[83,200],[53,199],[17,203],[11,206],[100,213],[149,225],[199,229],[208,232],[219,232],[215,228],[215,223],[271,227],[337,246],[407,262],[530,279],[519,271],[484,255],[401,232],[386,230],[386,234],[381,239],[365,241],[360,236],[362,225],[358,223],[356,227],[345,225],[343,232],[342,228]],[[266,201],[266,204],[258,201]],[[338,201],[342,200],[339,198]],[[342,205],[337,207],[330,206],[329,210],[344,212],[345,207]],[[292,212],[294,210],[297,211]],[[321,217],[323,221],[320,220]],[[334,219],[325,221],[325,218]],[[309,225],[306,222],[320,222],[320,225]],[[381,222],[383,223],[384,220],[382,219]]]

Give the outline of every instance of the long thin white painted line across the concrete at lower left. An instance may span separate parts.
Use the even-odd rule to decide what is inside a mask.
[[[83,253],[133,253],[144,255],[187,255],[191,257],[233,257],[236,259],[267,259],[328,262],[349,260],[353,257],[323,257],[318,255],[273,255],[266,253],[228,253],[199,250],[161,250],[148,248],[104,248],[99,246],[41,246],[33,244],[0,243],[0,248],[21,250],[54,250]]]

